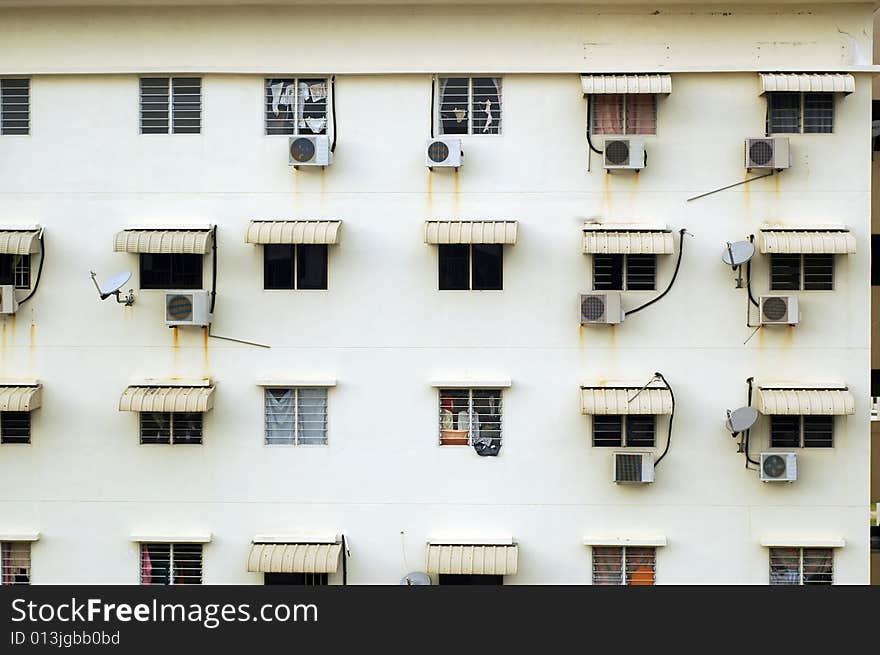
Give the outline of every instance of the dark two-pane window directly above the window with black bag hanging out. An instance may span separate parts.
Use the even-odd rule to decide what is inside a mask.
[[[501,291],[504,246],[500,243],[440,244],[441,291]]]

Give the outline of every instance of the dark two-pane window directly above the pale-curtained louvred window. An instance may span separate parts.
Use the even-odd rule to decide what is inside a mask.
[[[326,289],[327,244],[263,246],[264,289]]]

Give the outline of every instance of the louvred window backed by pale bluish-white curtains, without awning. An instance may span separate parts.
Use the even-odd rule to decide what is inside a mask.
[[[326,445],[327,389],[266,389],[266,443]]]

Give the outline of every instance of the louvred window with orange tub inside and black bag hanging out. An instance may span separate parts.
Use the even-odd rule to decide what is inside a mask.
[[[441,389],[440,444],[501,446],[500,389]]]

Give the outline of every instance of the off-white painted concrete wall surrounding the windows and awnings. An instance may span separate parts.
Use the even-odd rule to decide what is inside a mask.
[[[514,536],[520,567],[510,584],[588,583],[590,552],[581,542],[597,534],[665,535],[658,583],[762,584],[761,538],[843,538],[836,581],[867,582],[869,74],[858,73],[856,92],[838,99],[834,134],[792,136],[791,170],[687,202],[744,179],[743,139],[764,129],[752,64],[675,74],[672,94],[659,101],[658,134],[648,139],[649,167],[606,175],[594,156],[588,172],[585,101],[568,71],[590,66],[580,41],[576,55],[561,56],[552,35],[586,39],[591,23],[574,30],[556,9],[525,17],[511,9],[506,24],[524,29],[532,21],[532,52],[540,52],[539,64],[512,62],[511,70],[562,72],[505,75],[503,136],[466,137],[460,173],[432,174],[423,160],[429,75],[356,74],[390,66],[391,57],[401,70],[442,66],[439,50],[418,61],[432,39],[402,34],[428,10],[333,13],[330,44],[302,60],[309,71],[352,73],[336,80],[336,162],[294,172],[286,137],[263,135],[259,71],[299,73],[299,53],[280,49],[279,60],[253,55],[248,44],[263,43],[261,30],[273,20],[276,29],[296,16],[320,22],[330,10],[249,11],[253,17],[201,10],[211,29],[187,23],[212,52],[225,52],[217,67],[234,59],[256,73],[205,74],[201,135],[140,136],[136,74],[55,74],[33,77],[31,136],[0,138],[0,225],[45,225],[48,250],[36,297],[0,325],[0,377],[36,377],[45,386],[32,445],[0,448],[0,531],[42,533],[35,583],[134,583],[129,535],[203,530],[214,535],[205,547],[206,583],[259,582],[245,571],[253,535],[302,530],[346,534],[355,584],[396,583],[423,569],[426,540],[450,533]],[[821,11],[870,33],[867,5]],[[177,14],[144,12],[173,44]],[[22,73],[207,67],[198,47],[122,47],[140,38],[140,23],[126,16],[9,10],[0,15],[0,62]],[[677,16],[658,23],[656,38],[669,26],[693,46],[683,67],[712,68],[694,49],[707,35]],[[596,38],[613,32],[614,43],[642,29],[621,16],[596,20],[604,26]],[[735,44],[754,20],[731,20],[729,31],[719,22],[714,33]],[[780,51],[773,68],[841,67],[829,55],[839,35],[825,22],[820,29],[789,9],[774,22],[807,46],[800,56]],[[88,42],[83,25],[94,35]],[[378,51],[346,49],[355,27],[382,35]],[[49,47],[40,34],[53,30]],[[484,44],[466,30],[447,70],[470,62],[501,70],[513,50],[498,55],[491,46],[507,43],[507,32],[492,34]],[[119,56],[111,58],[114,42]],[[734,59],[720,57],[718,68]],[[624,65],[658,68],[639,51]],[[244,235],[249,220],[266,218],[344,221],[328,291],[262,289],[262,253]],[[428,218],[518,220],[504,291],[437,291],[437,252],[422,235]],[[579,229],[588,218],[659,221],[694,235],[669,295],[613,329],[578,326],[577,294],[591,279]],[[846,224],[859,251],[837,258],[833,292],[799,294],[801,325],[762,330],[744,345],[751,333],[744,291],[721,265],[721,247],[764,221]],[[201,330],[175,335],[164,326],[160,291],[137,292],[130,309],[98,302],[88,271],[136,271],[136,256],[114,253],[111,239],[145,223],[216,223],[214,331],[272,348],[206,341]],[[673,266],[674,258],[661,258],[661,286]],[[768,289],[766,258],[756,258],[753,278],[756,293]],[[627,294],[625,304],[651,296]],[[670,454],[653,485],[615,486],[611,450],[590,445],[578,387],[647,380],[654,371],[676,395]],[[339,380],[330,391],[327,447],[263,444],[256,380],[272,375]],[[131,380],[171,376],[217,383],[201,447],[140,446],[136,415],[116,411]],[[498,458],[437,445],[429,380],[452,376],[512,379]],[[837,420],[833,450],[799,451],[795,484],[760,483],[722,427],[724,410],[745,404],[749,376],[840,380],[856,398],[856,414]],[[761,419],[753,433],[753,453],[767,444],[766,425]],[[94,564],[71,565],[77,561]]]

